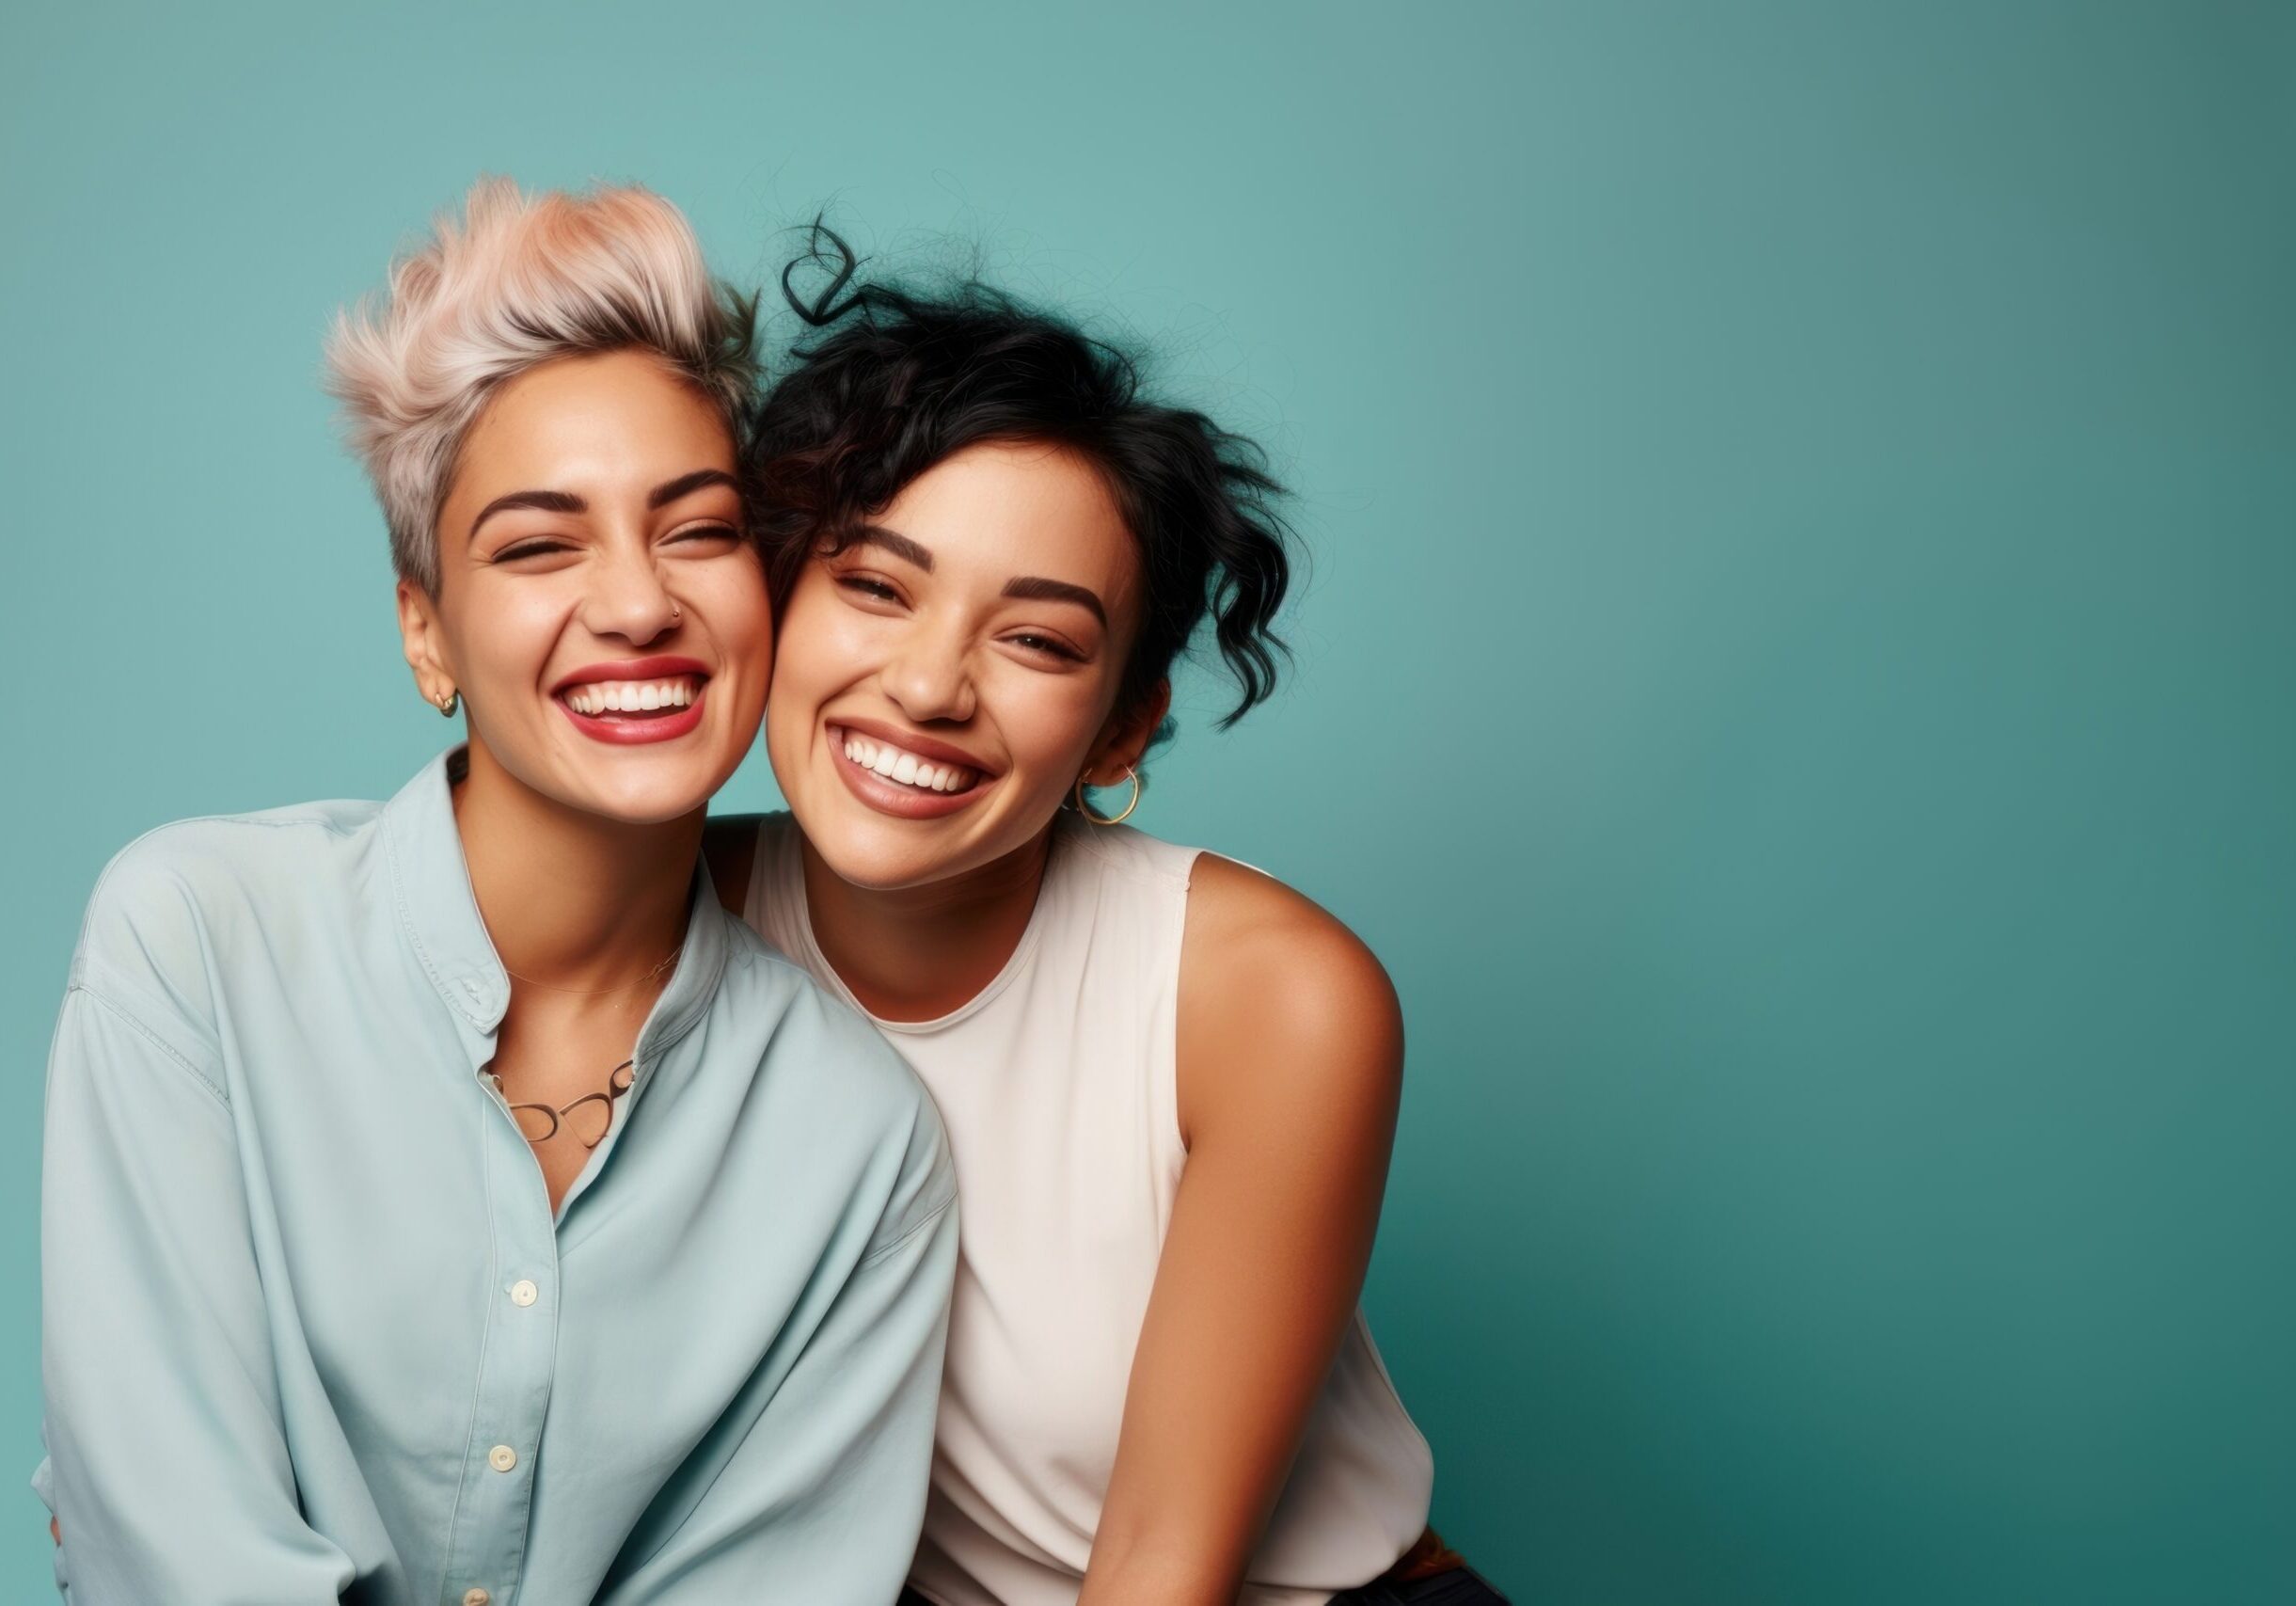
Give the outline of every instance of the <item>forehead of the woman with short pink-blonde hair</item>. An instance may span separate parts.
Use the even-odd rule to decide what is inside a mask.
[[[645,352],[560,356],[487,402],[448,499],[505,487],[597,492],[620,480],[652,487],[689,469],[732,469],[732,437],[700,391]]]

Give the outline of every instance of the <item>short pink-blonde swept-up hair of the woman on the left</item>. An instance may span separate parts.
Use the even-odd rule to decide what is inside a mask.
[[[709,276],[684,214],[634,184],[526,195],[480,179],[461,223],[390,267],[390,289],[335,317],[326,388],[390,524],[402,579],[439,588],[439,508],[494,391],[588,352],[647,349],[719,404],[737,437],[758,386],[755,301]]]

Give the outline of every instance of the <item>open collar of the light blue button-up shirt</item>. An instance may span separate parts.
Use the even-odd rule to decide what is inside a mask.
[[[383,804],[383,843],[390,852],[390,889],[400,905],[400,926],[422,972],[457,1016],[473,1029],[491,1034],[510,1009],[510,972],[503,970],[487,921],[478,914],[471,868],[461,857],[461,832],[455,829],[450,774],[459,772],[461,758],[464,749],[450,747]],[[726,974],[730,956],[726,926],[732,914],[716,898],[709,866],[698,859],[689,898],[687,942],[647,1016],[641,1052],[684,1036]]]

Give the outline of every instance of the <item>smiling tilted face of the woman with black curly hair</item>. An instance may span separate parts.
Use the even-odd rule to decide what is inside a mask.
[[[1084,460],[992,443],[921,473],[783,609],[765,735],[806,841],[875,889],[1033,843],[1162,717],[1116,710],[1137,613],[1132,535]]]

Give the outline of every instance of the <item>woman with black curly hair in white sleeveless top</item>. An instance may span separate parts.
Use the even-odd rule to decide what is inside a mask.
[[[914,1595],[1499,1599],[1426,1528],[1428,1445],[1357,1310],[1394,988],[1290,887],[1123,825],[1205,613],[1228,721],[1274,685],[1277,482],[1056,317],[852,287],[827,230],[808,264],[822,333],[748,455],[790,813],[714,823],[712,852],[948,1124]]]

